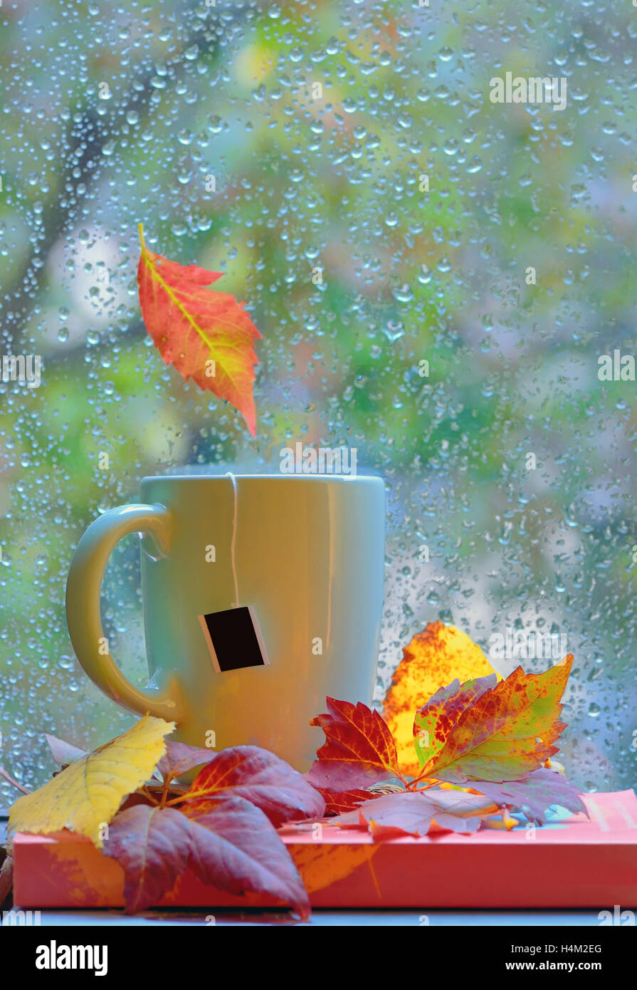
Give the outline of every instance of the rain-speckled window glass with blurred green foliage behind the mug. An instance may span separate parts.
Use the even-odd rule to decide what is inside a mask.
[[[576,657],[569,775],[632,786],[637,9],[5,0],[0,21],[2,765],[33,786],[45,733],[135,720],[68,638],[88,524],[143,475],[278,472],[300,443],[387,483],[377,699],[428,622],[503,673],[544,669],[520,651],[541,638]],[[254,439],[146,334],[139,223],[245,301]],[[139,585],[132,535],[102,610],[141,685]]]

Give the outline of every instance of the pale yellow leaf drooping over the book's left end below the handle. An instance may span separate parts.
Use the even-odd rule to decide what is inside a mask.
[[[98,847],[104,825],[122,801],[143,784],[166,750],[164,736],[175,728],[145,715],[123,736],[100,746],[13,804],[9,832],[58,832],[70,829]]]

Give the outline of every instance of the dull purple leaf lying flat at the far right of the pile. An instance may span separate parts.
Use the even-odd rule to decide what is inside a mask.
[[[546,822],[547,808],[555,805],[572,812],[584,812],[589,817],[577,788],[561,773],[544,767],[529,773],[524,780],[504,783],[482,780],[476,781],[473,787],[498,805],[521,808],[530,822],[540,825]]]

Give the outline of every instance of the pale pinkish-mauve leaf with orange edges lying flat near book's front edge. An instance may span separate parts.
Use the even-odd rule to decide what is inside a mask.
[[[477,832],[482,820],[498,810],[490,798],[466,791],[401,791],[366,801],[356,811],[340,815],[334,825],[368,827],[375,840],[398,835],[426,836],[436,826],[467,834]]]

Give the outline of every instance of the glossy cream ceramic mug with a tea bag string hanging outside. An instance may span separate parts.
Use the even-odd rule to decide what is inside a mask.
[[[325,696],[371,702],[382,479],[172,475],[143,478],[141,498],[92,523],[75,551],[66,615],[79,662],[118,704],[174,720],[183,742],[255,743],[307,769],[322,741],[309,723]],[[109,555],[135,532],[144,689],[117,666],[100,621]]]

